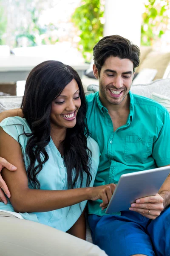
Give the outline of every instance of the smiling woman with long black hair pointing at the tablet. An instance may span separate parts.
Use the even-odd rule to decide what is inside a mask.
[[[38,222],[85,239],[87,200],[101,198],[101,207],[106,207],[114,185],[92,187],[99,147],[89,137],[85,93],[77,72],[59,61],[39,64],[28,76],[21,108],[24,118],[9,117],[0,123],[0,156],[17,167],[15,172],[3,169],[11,198],[6,205],[0,203],[0,219],[14,216],[10,219],[15,226],[17,217],[17,226],[31,226],[32,233]],[[54,232],[46,230],[41,228],[43,245]],[[84,243],[81,255],[93,255],[86,254]]]

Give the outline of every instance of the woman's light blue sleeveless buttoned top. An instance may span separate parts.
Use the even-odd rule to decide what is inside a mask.
[[[21,117],[8,117],[4,119],[0,126],[3,130],[18,141],[18,136],[23,134],[23,128],[26,133],[31,133],[31,130],[26,122],[26,119]],[[24,162],[26,170],[28,168],[28,164],[26,161],[26,145],[30,137],[26,137],[25,135],[21,135],[19,137],[19,142],[22,145],[22,152],[24,156]],[[8,143],[8,142],[6,142]],[[97,168],[99,165],[99,146],[95,140],[92,138],[88,138],[88,148],[92,152],[91,158],[91,175],[92,181],[90,186],[93,186],[94,179],[96,176]],[[58,149],[53,143],[51,139],[48,145],[45,147],[49,159],[44,164],[42,171],[38,174],[38,180],[40,182],[40,189],[43,190],[65,190],[68,189],[68,180],[67,180],[67,169],[65,168],[65,163]],[[79,183],[78,183],[79,184]],[[86,186],[86,174],[84,174],[83,185]],[[32,186],[29,186],[32,189]],[[79,187],[79,185],[77,185]],[[81,215],[83,209],[85,208],[87,201],[83,201],[80,204],[75,204],[71,208],[65,207],[62,209],[57,209],[50,212],[33,212],[33,213],[20,213],[24,219],[40,222],[42,224],[48,225],[50,227],[54,227],[58,230],[67,231],[69,230],[74,223],[77,221],[79,216]],[[8,200],[8,204],[3,204],[0,202],[0,210],[7,210],[14,212],[14,208],[12,207],[10,201]]]

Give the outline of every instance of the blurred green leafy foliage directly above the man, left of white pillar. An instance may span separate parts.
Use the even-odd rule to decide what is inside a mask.
[[[86,61],[91,61],[94,45],[103,36],[102,17],[104,6],[100,0],[82,0],[72,16],[72,22],[78,28],[79,50]]]

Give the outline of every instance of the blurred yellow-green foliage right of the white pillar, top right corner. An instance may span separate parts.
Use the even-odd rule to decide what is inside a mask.
[[[141,44],[151,46],[167,30],[169,19],[167,11],[170,0],[147,0],[142,15]]]

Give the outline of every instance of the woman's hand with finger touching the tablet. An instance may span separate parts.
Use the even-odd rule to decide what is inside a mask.
[[[102,207],[102,210],[104,210],[108,207],[115,188],[116,184],[113,183],[103,186],[91,187],[89,188],[89,200],[96,201],[101,199],[103,202],[100,204],[100,207]]]

